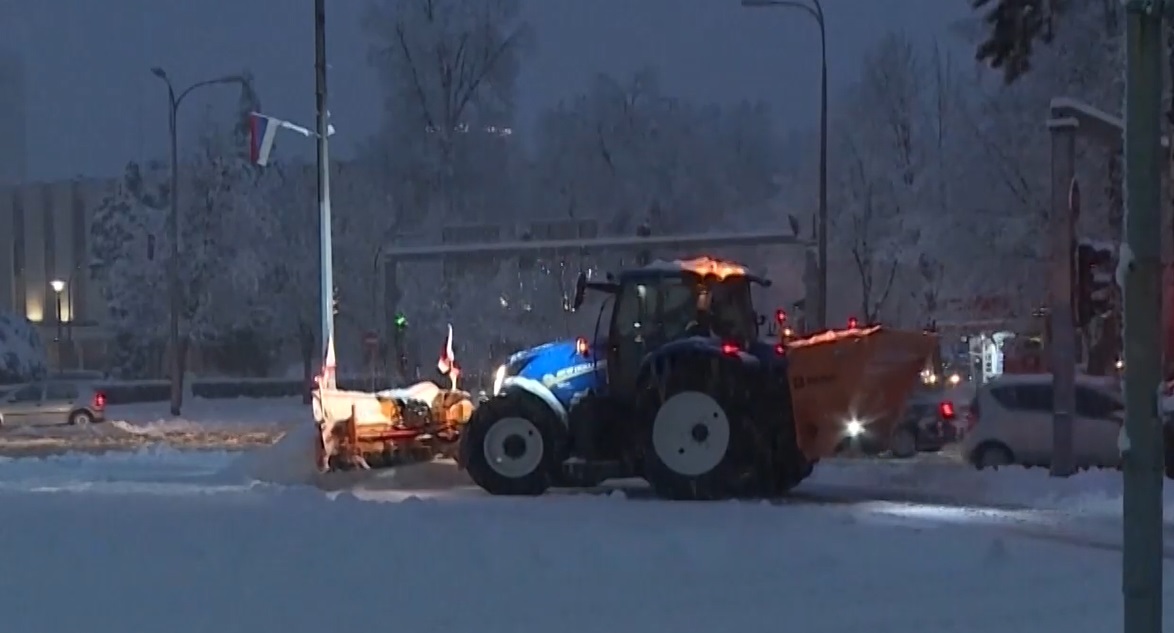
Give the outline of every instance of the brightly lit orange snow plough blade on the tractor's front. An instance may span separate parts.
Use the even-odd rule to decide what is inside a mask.
[[[379,392],[318,390],[313,404],[322,472],[452,457],[474,409],[467,392],[431,382]]]

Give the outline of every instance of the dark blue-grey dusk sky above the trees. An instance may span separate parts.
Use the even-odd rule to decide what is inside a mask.
[[[945,31],[969,5],[824,2],[834,90],[886,31],[951,41]],[[344,156],[379,122],[370,40],[359,27],[365,5],[328,2],[333,147]],[[768,100],[783,132],[816,122],[818,33],[801,12],[744,9],[737,0],[526,0],[526,16],[538,48],[519,86],[522,133],[594,73],[643,66],[659,68],[684,97]],[[148,70],[156,65],[177,85],[251,69],[269,113],[312,124],[312,28],[311,0],[0,0],[0,46],[18,50],[28,69],[29,180],[114,174],[127,160],[164,155],[166,93]],[[952,46],[969,62],[971,52]],[[184,103],[183,124],[235,99],[232,88],[203,92]]]

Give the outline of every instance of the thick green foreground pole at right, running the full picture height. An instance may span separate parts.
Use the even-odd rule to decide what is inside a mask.
[[[1161,106],[1163,0],[1126,2],[1124,281],[1125,633],[1162,631]],[[1124,277],[1124,280],[1121,280]]]

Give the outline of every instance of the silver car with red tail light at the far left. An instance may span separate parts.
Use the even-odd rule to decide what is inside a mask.
[[[49,379],[0,397],[0,426],[106,422],[106,393],[83,381]]]

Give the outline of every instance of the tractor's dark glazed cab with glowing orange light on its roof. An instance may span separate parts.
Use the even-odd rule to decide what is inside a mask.
[[[607,282],[589,282],[580,275],[576,308],[588,289],[615,297],[607,342],[599,345],[603,349],[596,348],[607,359],[608,393],[629,396],[646,356],[673,341],[716,337],[748,349],[757,341],[761,324],[751,283],[770,284],[737,264],[709,257],[654,262]]]

